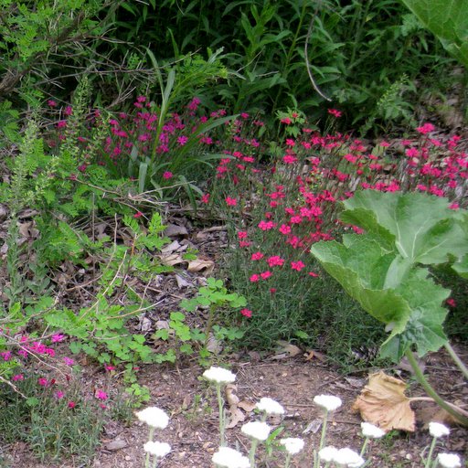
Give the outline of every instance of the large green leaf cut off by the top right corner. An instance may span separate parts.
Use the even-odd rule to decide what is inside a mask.
[[[447,51],[468,67],[468,2],[466,0],[402,0]]]

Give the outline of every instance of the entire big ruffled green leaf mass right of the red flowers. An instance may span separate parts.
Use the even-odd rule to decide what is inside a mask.
[[[441,306],[449,291],[420,265],[460,259],[468,250],[461,219],[444,198],[422,194],[359,192],[344,202],[341,219],[365,230],[336,241],[314,244],[312,253],[346,293],[380,322],[390,335],[383,356],[399,361],[415,346],[420,356],[447,340]]]

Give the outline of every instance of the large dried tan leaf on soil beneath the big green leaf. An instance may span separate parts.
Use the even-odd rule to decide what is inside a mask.
[[[390,377],[382,371],[372,374],[354,402],[353,410],[359,411],[363,420],[384,431],[397,429],[414,432],[415,415],[410,408],[410,399],[405,396],[405,389],[405,382],[399,378]]]

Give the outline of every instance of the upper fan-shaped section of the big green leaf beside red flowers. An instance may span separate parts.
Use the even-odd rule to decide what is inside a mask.
[[[445,198],[365,190],[344,204],[344,221],[366,229],[386,248],[393,239],[411,264],[444,263],[468,252],[468,234]]]

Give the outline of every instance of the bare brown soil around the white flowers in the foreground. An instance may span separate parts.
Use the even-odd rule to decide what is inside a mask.
[[[459,351],[463,351],[460,350]],[[466,356],[466,350],[464,350]],[[255,355],[236,356],[229,362],[236,373],[234,393],[240,401],[256,402],[261,397],[271,397],[282,403],[286,414],[282,419],[270,420],[273,427],[283,427],[281,437],[301,437],[305,441],[304,452],[297,455],[292,463],[294,468],[312,466],[314,447],[320,440],[320,411],[314,406],[317,394],[331,394],[343,399],[343,406],[335,411],[328,430],[328,443],[336,447],[351,447],[360,450],[362,438],[359,435],[361,419],[352,412],[356,396],[366,382],[365,374],[341,376],[327,367],[324,362],[308,356],[295,356],[281,360],[265,358],[256,360]],[[398,369],[393,369],[398,370]],[[447,356],[438,353],[429,356],[426,370],[437,375],[432,379],[441,395],[451,401],[468,399],[468,386],[460,373],[449,364]],[[167,441],[172,452],[159,466],[167,468],[210,467],[211,456],[218,449],[218,406],[214,391],[200,379],[203,368],[195,364],[184,367],[144,367],[139,382],[151,390],[151,405],[164,409],[171,416],[169,426],[156,432],[156,440]],[[391,373],[390,369],[387,369]],[[399,371],[401,372],[401,370]],[[410,381],[410,376],[403,371]],[[102,373],[94,375],[100,384]],[[422,393],[415,384],[410,385],[408,394],[418,396]],[[418,428],[414,433],[392,432],[385,439],[370,445],[367,458],[371,466],[378,467],[421,467],[421,454],[427,453],[431,438],[423,428],[424,420],[429,421],[435,412],[431,404],[414,405],[417,411]],[[431,410],[428,412],[428,408]],[[211,410],[213,409],[213,410]],[[245,421],[258,416],[254,412],[242,411]],[[229,446],[239,447],[249,452],[249,441],[241,434],[239,422],[227,431]],[[304,433],[305,432],[305,433]],[[93,468],[136,468],[144,466],[142,450],[147,437],[147,428],[138,420],[130,426],[112,421],[106,426],[101,438],[101,449],[93,463]],[[278,438],[278,439],[279,439]],[[466,460],[468,444],[465,428],[452,427],[450,437],[441,440],[442,451],[458,452]],[[24,444],[9,447],[12,466],[25,468],[71,468],[84,466],[73,461],[64,463],[37,463]],[[280,468],[284,458],[281,452],[274,451],[271,457],[261,453],[258,468]]]

